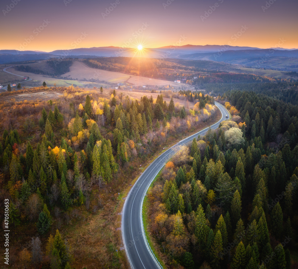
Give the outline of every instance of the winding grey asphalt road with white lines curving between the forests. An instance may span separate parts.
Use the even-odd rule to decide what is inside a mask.
[[[226,120],[226,115],[229,112],[220,103],[215,102],[215,105],[220,109],[222,117],[221,119],[209,126],[211,129],[217,129],[219,123]],[[123,209],[122,209],[122,239],[125,247],[125,251],[130,262],[131,268],[133,269],[153,269],[162,268],[159,262],[153,255],[150,247],[147,243],[147,239],[144,233],[144,227],[142,222],[142,205],[145,194],[154,180],[158,172],[162,169],[165,163],[176,153],[175,148],[180,145],[184,145],[193,140],[199,134],[206,134],[209,127],[204,130],[191,135],[190,137],[181,140],[176,145],[169,148],[167,151],[157,157],[148,168],[138,178],[134,186],[126,197]]]

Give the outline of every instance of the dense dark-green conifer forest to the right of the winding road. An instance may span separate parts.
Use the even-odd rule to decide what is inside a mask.
[[[245,91],[218,101],[233,118],[181,148],[148,191],[160,255],[170,268],[296,268],[298,107]]]

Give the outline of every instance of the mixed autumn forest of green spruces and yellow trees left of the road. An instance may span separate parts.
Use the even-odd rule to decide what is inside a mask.
[[[170,137],[215,118],[218,111],[213,98],[202,93],[189,109],[173,98],[167,103],[162,94],[135,100],[115,90],[107,99],[100,90],[72,86],[30,91],[53,89],[64,91],[60,99],[2,102],[0,107],[1,200],[9,199],[14,231],[10,262],[15,268],[81,265],[90,257],[86,242],[64,240],[64,229],[113,206],[114,193],[122,190],[135,163],[159,151]],[[111,222],[110,212],[105,214],[106,223]],[[111,243],[115,230],[104,231],[109,248],[90,259],[120,268],[120,257],[113,256],[116,244]]]

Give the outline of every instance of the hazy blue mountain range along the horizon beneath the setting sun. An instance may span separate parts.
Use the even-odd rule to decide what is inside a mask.
[[[19,51],[19,50],[0,50],[0,64],[44,60],[54,57],[72,58],[94,58],[94,57],[133,57],[138,53],[136,48],[121,47],[93,47],[79,48],[70,50],[54,50],[52,52],[43,51]],[[184,45],[166,46],[159,48],[145,48],[139,54],[147,58],[177,58],[189,60],[209,60],[238,63],[244,65],[254,65],[260,62],[276,59],[277,57],[292,58],[291,62],[297,61],[298,49],[270,48],[260,49],[256,47],[238,47],[229,45]],[[295,60],[293,60],[295,58]],[[293,66],[295,69],[296,66]]]

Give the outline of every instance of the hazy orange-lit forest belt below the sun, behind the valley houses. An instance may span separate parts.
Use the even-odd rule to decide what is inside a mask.
[[[101,57],[86,59],[84,60],[84,63],[92,68],[123,72],[130,75],[164,79],[168,81],[180,79],[182,82],[194,86],[205,86],[217,83],[248,84],[287,81],[284,79],[270,78],[261,75],[236,73],[236,69],[235,73],[202,69],[202,67],[212,67],[212,64],[208,61],[174,61],[173,59],[161,60],[150,58]],[[211,86],[208,87],[210,88]],[[212,87],[210,89],[212,89]],[[221,91],[223,92],[223,89]]]

